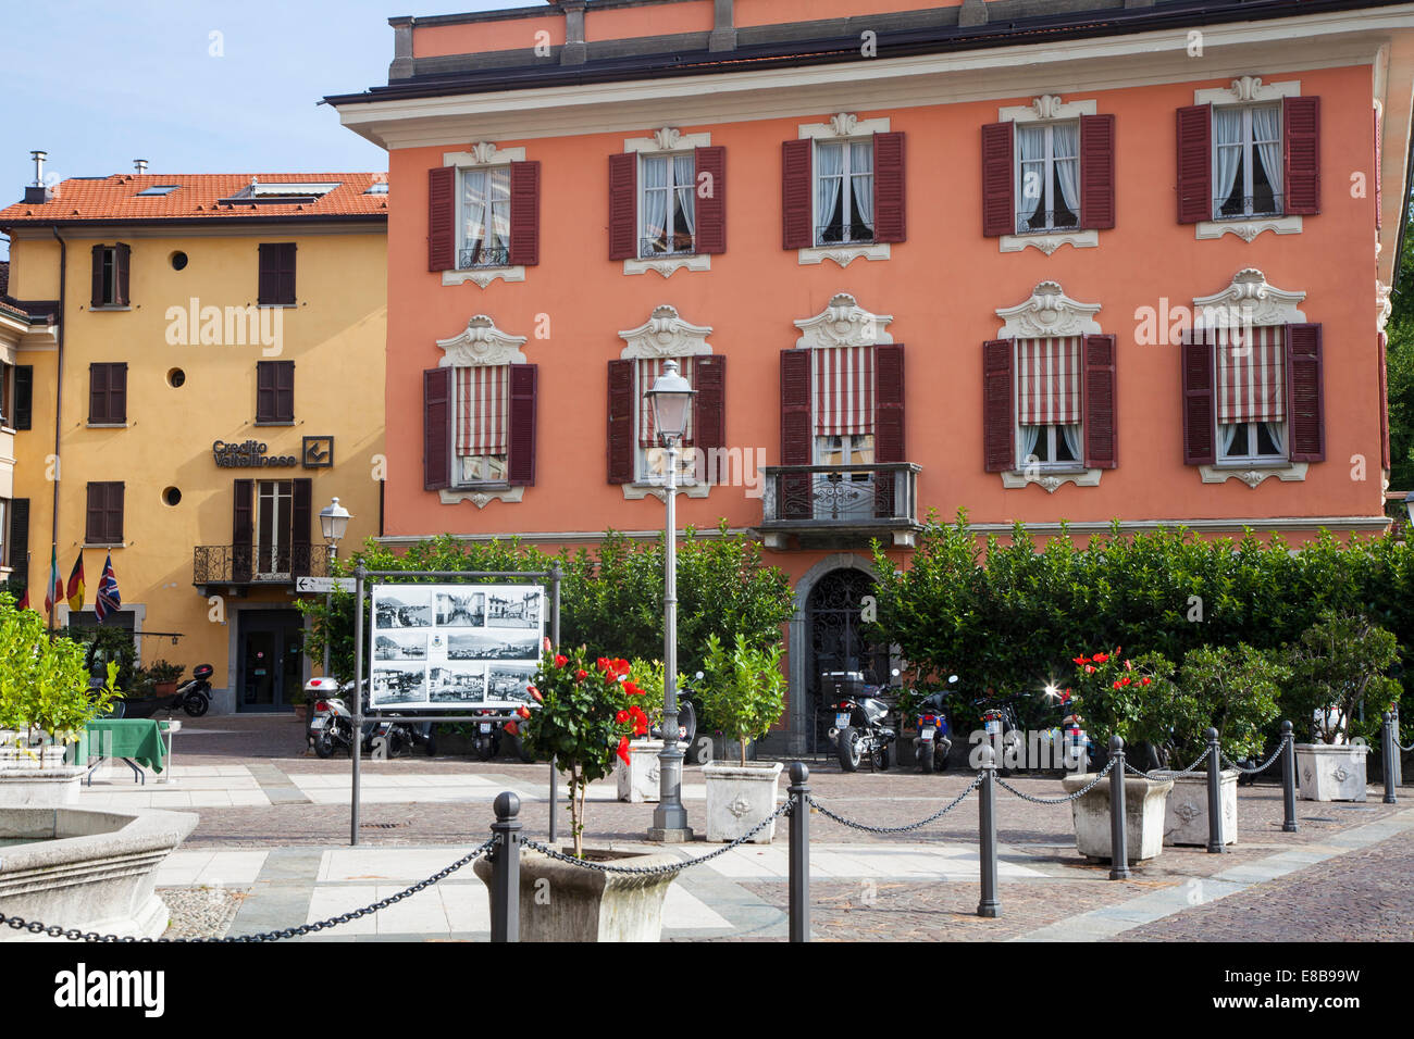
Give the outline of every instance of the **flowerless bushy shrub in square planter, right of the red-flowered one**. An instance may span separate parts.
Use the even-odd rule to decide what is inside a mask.
[[[1188,768],[1208,749],[1208,729],[1227,761],[1261,753],[1267,724],[1277,717],[1277,695],[1291,677],[1281,660],[1246,643],[1236,647],[1199,646],[1189,650],[1179,669],[1169,701],[1176,761]],[[1237,770],[1223,769],[1220,790],[1223,844],[1237,841]],[[1164,818],[1164,843],[1208,844],[1208,762],[1186,776],[1174,775],[1174,793]]]

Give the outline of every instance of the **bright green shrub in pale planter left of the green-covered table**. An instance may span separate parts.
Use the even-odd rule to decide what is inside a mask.
[[[64,749],[117,697],[116,674],[109,663],[107,683],[90,691],[83,646],[51,639],[37,611],[0,594],[0,804],[78,800],[86,769],[65,766]]]

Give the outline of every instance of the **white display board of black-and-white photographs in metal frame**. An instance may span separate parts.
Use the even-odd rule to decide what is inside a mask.
[[[544,588],[380,584],[372,588],[375,710],[516,708],[540,666]]]

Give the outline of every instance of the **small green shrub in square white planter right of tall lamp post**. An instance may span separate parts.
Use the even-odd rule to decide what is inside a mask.
[[[734,841],[776,810],[781,762],[748,762],[747,744],[764,736],[785,710],[786,680],[781,674],[781,646],[769,650],[747,645],[737,635],[731,647],[711,635],[703,664],[703,720],[737,741],[741,759],[735,763],[708,762],[707,840]],[[752,838],[769,844],[775,823]]]

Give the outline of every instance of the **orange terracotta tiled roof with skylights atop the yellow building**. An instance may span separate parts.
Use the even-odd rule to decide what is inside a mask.
[[[279,202],[250,198],[252,180],[257,189],[280,184],[338,187],[314,201]],[[113,174],[62,181],[48,202],[16,202],[0,209],[0,226],[18,223],[86,221],[192,221],[242,216],[387,216],[390,195],[369,194],[375,184],[386,184],[383,172],[337,174]],[[150,188],[175,187],[161,195],[143,195]],[[226,201],[229,199],[229,201]]]

